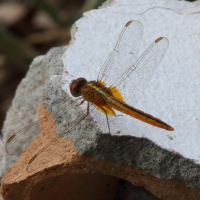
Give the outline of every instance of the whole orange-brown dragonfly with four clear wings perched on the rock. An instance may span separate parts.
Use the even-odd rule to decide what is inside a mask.
[[[76,117],[72,123],[61,128],[57,133],[58,136],[28,161],[27,171],[48,147],[55,144],[58,137],[62,138],[69,132],[78,133],[80,130],[76,130],[76,127],[84,123],[88,117],[98,119],[103,115],[105,121],[102,122],[102,117],[99,117],[99,123],[107,127],[108,133],[112,132],[109,122],[112,117],[117,117],[116,111],[149,125],[173,131],[174,129],[167,123],[133,107],[144,94],[169,45],[167,38],[160,37],[137,59],[142,36],[142,23],[129,21],[124,26],[114,50],[100,68],[97,79],[87,81],[80,77],[72,80],[69,88],[74,99],[70,98],[67,104],[65,102],[55,106],[50,114],[12,135],[6,143],[7,153],[13,155],[23,152],[42,129],[51,124],[53,119],[59,120],[60,116],[66,114],[75,114]]]

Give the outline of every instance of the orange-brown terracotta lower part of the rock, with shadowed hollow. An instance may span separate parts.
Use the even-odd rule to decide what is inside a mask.
[[[39,118],[49,111],[40,104]],[[112,199],[119,178],[142,186],[161,199],[197,199],[198,189],[162,180],[141,170],[79,154],[70,139],[58,139],[41,153],[27,172],[27,162],[55,133],[55,123],[43,130],[2,179],[4,199]],[[48,162],[47,162],[48,161]],[[29,169],[29,170],[30,170]]]

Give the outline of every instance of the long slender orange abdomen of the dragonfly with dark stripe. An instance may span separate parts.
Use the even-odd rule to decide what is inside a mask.
[[[141,120],[145,123],[148,123],[148,124],[151,124],[153,126],[163,128],[163,129],[166,129],[166,130],[170,130],[170,131],[174,130],[171,126],[169,126],[168,124],[166,124],[162,120],[160,120],[156,117],[153,117],[152,115],[149,115],[147,113],[144,113],[141,110],[133,108],[132,106],[129,106],[128,104],[121,102],[120,100],[118,100],[116,98],[109,97],[107,99],[107,103],[108,103],[109,106],[111,106],[115,110],[118,110],[118,111],[120,111],[124,114],[127,114],[127,115],[134,117],[136,119],[139,119],[139,120]]]

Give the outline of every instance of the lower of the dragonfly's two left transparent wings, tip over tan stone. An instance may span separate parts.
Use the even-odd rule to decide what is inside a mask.
[[[81,99],[79,100],[81,102]],[[66,115],[68,120],[62,123],[59,123],[60,119],[63,116],[56,118],[56,135],[51,141],[44,145],[28,162],[26,170],[28,172],[35,171],[36,169],[44,168],[47,164],[50,164],[52,161],[55,162],[55,159],[65,159],[66,152],[68,151],[68,145],[66,142],[63,142],[62,139],[73,138],[73,135],[81,135],[83,132],[89,134],[88,129],[93,129],[91,126],[92,118],[98,112],[92,103],[89,103],[89,117],[87,113],[88,102],[78,105],[77,102],[71,101],[68,102],[70,106],[67,108]],[[96,114],[95,114],[96,113]],[[86,118],[87,117],[87,118]],[[58,120],[58,118],[60,118]],[[104,115],[106,121],[106,117]],[[90,126],[88,125],[90,123]],[[95,123],[93,122],[94,126]],[[96,127],[96,126],[95,126]],[[85,129],[85,130],[84,130]],[[87,130],[87,131],[86,131]],[[61,139],[62,138],[62,139]],[[64,146],[63,146],[64,145]],[[64,150],[64,151],[63,151]]]

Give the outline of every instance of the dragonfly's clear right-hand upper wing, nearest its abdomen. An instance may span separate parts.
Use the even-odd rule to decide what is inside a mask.
[[[169,42],[161,37],[155,40],[134,65],[112,83],[129,105],[135,105],[144,94],[149,81],[164,56]]]

